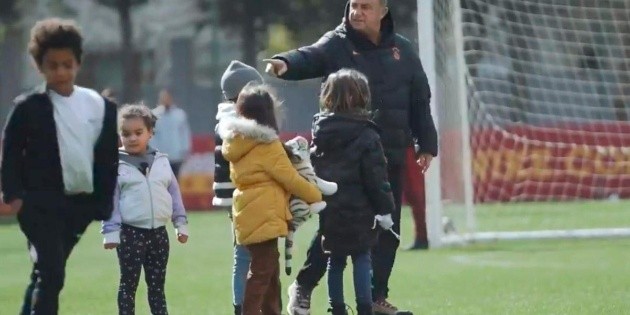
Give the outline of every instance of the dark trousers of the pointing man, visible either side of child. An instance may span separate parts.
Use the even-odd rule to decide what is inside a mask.
[[[392,213],[392,229],[400,235],[400,205],[402,199],[402,165],[388,165],[387,176],[392,187],[396,204]],[[325,212],[325,211],[324,211]],[[325,214],[324,214],[325,215]],[[320,215],[320,227],[322,218]],[[314,288],[326,273],[327,255],[322,250],[322,236],[318,232],[306,254],[306,261],[297,275],[296,281],[301,286]],[[400,241],[390,232],[379,234],[376,246],[372,248],[372,299],[387,298],[389,295],[389,277],[396,260],[396,250]]]

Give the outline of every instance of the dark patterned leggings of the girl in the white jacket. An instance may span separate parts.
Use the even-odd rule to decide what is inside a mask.
[[[168,314],[164,294],[166,264],[169,254],[166,228],[141,229],[123,225],[117,252],[120,264],[119,314],[135,314],[136,289],[143,267],[151,314]]]

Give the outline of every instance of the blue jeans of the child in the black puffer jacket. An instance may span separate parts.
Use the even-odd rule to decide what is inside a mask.
[[[372,283],[370,271],[372,261],[369,251],[351,255],[354,278],[354,294],[357,305],[372,305]],[[345,304],[343,298],[343,270],[346,268],[347,255],[335,255],[328,258],[328,298],[330,305]]]

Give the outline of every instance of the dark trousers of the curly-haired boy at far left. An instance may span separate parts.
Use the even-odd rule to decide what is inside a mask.
[[[22,314],[57,314],[66,261],[94,213],[80,197],[27,196],[17,218],[33,259]]]

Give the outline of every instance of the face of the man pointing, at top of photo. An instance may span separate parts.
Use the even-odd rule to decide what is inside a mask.
[[[381,30],[381,19],[387,8],[380,0],[351,0],[350,25],[364,34],[374,34]]]

